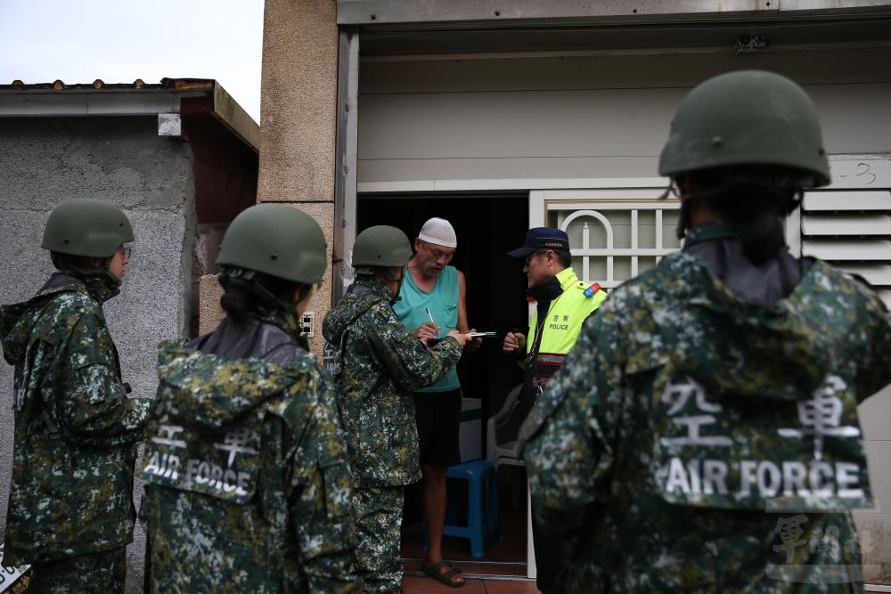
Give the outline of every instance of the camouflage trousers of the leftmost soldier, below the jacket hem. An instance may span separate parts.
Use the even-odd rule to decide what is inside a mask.
[[[124,591],[127,549],[79,555],[31,566],[28,592],[35,594],[114,594]]]

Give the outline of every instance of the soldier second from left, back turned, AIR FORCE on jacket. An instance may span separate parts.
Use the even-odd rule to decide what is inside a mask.
[[[147,590],[362,589],[333,384],[299,336],[325,258],[305,213],[248,208],[217,257],[226,319],[161,345],[141,467]]]

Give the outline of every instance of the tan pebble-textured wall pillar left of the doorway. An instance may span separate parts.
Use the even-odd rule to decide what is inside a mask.
[[[334,230],[338,30],[335,0],[266,0],[260,174],[257,201],[287,202]],[[202,289],[212,283],[202,283]],[[209,296],[209,294],[208,294]],[[202,312],[212,304],[202,293]],[[321,360],[322,318],[331,308],[331,265],[308,311],[313,352]],[[206,328],[204,321],[201,327]]]

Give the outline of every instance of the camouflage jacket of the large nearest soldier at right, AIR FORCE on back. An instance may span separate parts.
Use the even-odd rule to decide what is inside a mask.
[[[521,429],[569,591],[862,591],[856,406],[891,381],[870,289],[815,262],[772,307],[697,256],[615,290]]]

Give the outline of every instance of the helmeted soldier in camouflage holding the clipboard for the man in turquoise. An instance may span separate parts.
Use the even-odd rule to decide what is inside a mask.
[[[412,257],[405,233],[380,225],[353,248],[356,282],[325,316],[325,362],[337,380],[356,480],[356,558],[366,592],[397,592],[403,490],[421,480],[412,393],[446,375],[467,341],[453,330],[430,350],[393,302]]]

